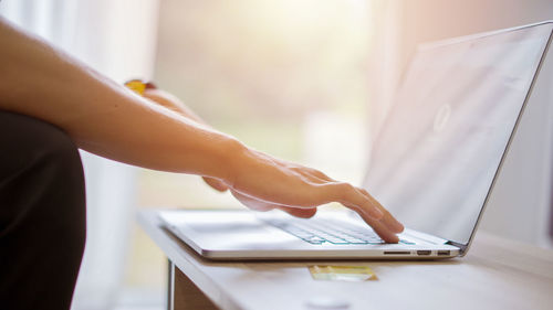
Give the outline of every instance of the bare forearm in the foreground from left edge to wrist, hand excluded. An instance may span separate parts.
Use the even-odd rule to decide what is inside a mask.
[[[236,139],[157,106],[0,20],[0,108],[67,131],[93,153],[228,179]]]

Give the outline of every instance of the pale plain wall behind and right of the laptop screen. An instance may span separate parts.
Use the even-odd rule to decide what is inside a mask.
[[[551,0],[375,0],[374,132],[418,43],[553,19]],[[377,13],[378,14],[378,13]],[[551,246],[553,56],[542,71],[488,206],[482,229]]]

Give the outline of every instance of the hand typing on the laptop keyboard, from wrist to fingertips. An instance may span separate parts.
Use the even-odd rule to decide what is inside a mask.
[[[258,211],[279,209],[294,216],[311,217],[319,205],[340,202],[356,211],[384,240],[398,242],[396,234],[404,226],[364,189],[248,148],[243,153],[227,185],[246,206]]]

